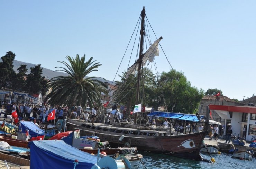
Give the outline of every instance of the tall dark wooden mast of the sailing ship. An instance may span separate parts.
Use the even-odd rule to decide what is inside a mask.
[[[139,86],[140,86],[140,76],[141,76],[141,65],[143,57],[143,38],[144,38],[144,20],[145,20],[145,7],[141,11],[141,28],[140,28],[140,47],[139,47],[139,62],[138,62],[138,77],[137,77],[137,90],[136,90],[136,100],[135,103],[139,104]],[[138,114],[134,114],[134,123],[137,124]]]

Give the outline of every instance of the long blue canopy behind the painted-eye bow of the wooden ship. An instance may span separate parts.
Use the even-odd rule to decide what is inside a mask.
[[[154,116],[154,117],[172,118],[172,119],[177,119],[177,120],[186,120],[186,121],[191,121],[191,122],[199,122],[198,118],[194,114],[154,111],[153,113],[149,113],[147,115]],[[201,116],[201,117],[203,118],[204,116]]]

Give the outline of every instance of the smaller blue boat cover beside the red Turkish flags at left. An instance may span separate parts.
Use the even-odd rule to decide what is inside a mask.
[[[31,137],[43,136],[45,131],[40,129],[33,122],[20,121],[19,132],[26,133],[26,130],[29,130]]]

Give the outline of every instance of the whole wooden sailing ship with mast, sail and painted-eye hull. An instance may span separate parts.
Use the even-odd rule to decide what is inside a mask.
[[[151,52],[148,54],[143,54],[143,40],[144,40],[144,19],[145,19],[145,8],[141,12],[141,30],[140,30],[140,49],[139,49],[139,59],[132,65],[127,74],[138,70],[137,78],[137,95],[136,104],[139,104],[139,82],[140,82],[140,69],[145,64],[145,60],[148,59],[149,55],[155,50],[159,41],[159,38],[153,43],[153,48],[147,50]],[[150,51],[151,50],[151,51]],[[198,115],[198,118],[200,116]],[[208,119],[208,116],[206,117]],[[135,122],[137,122],[137,114],[135,114]],[[132,147],[137,147],[141,151],[150,151],[155,153],[161,153],[166,155],[173,155],[177,157],[192,159],[192,160],[203,160],[200,156],[200,149],[207,134],[208,121],[205,122],[203,131],[181,134],[179,132],[172,133],[171,129],[165,131],[156,131],[150,129],[141,129],[138,125],[134,124],[135,127],[122,127],[110,126],[101,123],[91,123],[83,122],[82,120],[69,119],[67,122],[68,130],[80,130],[81,135],[96,135],[102,141],[108,141],[113,146],[120,145],[130,145]]]

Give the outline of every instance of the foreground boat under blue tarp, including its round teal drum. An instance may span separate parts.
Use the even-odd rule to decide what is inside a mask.
[[[75,147],[66,144],[63,140],[31,141],[30,144],[30,168],[112,168],[121,165],[122,168],[131,168],[127,159],[115,160],[111,157],[97,157],[82,152]],[[43,159],[43,160],[38,160]],[[96,166],[94,167],[96,168]]]

